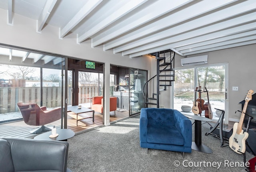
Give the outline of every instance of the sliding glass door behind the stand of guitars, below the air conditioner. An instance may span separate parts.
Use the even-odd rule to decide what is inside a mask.
[[[214,108],[225,110],[226,65],[176,69],[175,77],[174,109],[182,111],[182,105],[192,107],[195,95],[196,99],[199,97],[198,91],[200,89],[201,99],[204,103],[210,103],[211,105],[213,119],[217,120],[219,118],[220,114]],[[198,91],[195,91],[196,87],[198,87]],[[204,115],[204,113],[205,111],[202,111],[201,115]]]

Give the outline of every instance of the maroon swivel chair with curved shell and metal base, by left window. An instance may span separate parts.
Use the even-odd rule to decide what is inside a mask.
[[[44,125],[57,121],[61,118],[61,108],[46,111],[45,106],[39,107],[36,103],[23,104],[20,102],[17,103],[17,105],[20,109],[23,120],[27,125],[41,126],[38,129],[30,131],[31,134],[40,134],[42,132],[50,131],[51,129]]]

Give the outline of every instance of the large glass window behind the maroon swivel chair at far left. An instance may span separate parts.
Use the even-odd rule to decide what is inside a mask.
[[[22,119],[17,103],[61,107],[64,58],[0,47],[0,121]]]

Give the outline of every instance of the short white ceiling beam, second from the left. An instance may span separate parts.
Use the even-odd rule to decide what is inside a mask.
[[[46,1],[46,4],[44,5],[44,8],[42,9],[42,12],[36,20],[36,32],[41,33],[42,28],[44,27],[44,24],[46,20],[48,19],[50,13],[52,12],[52,8],[56,4],[57,0],[48,0]]]

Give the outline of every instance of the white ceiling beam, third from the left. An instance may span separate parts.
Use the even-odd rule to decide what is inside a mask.
[[[76,15],[64,26],[60,28],[59,38],[63,38],[72,30],[81,20],[83,20],[102,0],[89,0]]]

